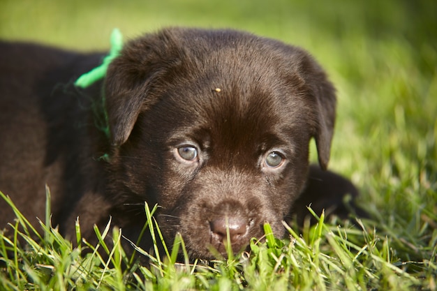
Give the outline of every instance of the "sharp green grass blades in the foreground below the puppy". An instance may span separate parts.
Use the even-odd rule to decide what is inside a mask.
[[[49,211],[47,222],[40,222],[44,230],[40,236],[13,202],[1,196],[17,214],[17,222],[11,225],[13,239],[0,234],[1,260],[6,263],[0,273],[1,290],[411,290],[435,284],[435,258],[400,261],[390,239],[378,236],[362,221],[358,221],[359,228],[334,227],[325,224],[322,215],[318,225],[305,227],[302,234],[285,225],[289,239],[276,239],[266,224],[266,241],[253,239],[250,253],[230,253],[227,260],[207,265],[190,264],[180,237],[170,253],[152,216],[156,207],[146,205],[148,230],[164,244],[165,254],[161,260],[158,248],[154,253],[137,248],[139,255],[150,260],[144,267],[126,256],[120,245],[121,232],[114,228],[110,235],[110,223],[102,232],[96,228],[100,244],[87,244],[79,231],[77,239],[82,244],[73,248],[50,226]],[[109,235],[111,248],[104,241]],[[26,241],[26,247],[17,242],[18,237]],[[108,259],[98,248],[103,248]],[[185,263],[177,262],[180,249]],[[81,255],[84,250],[89,250],[87,255]],[[435,250],[429,250],[433,252],[435,257]]]

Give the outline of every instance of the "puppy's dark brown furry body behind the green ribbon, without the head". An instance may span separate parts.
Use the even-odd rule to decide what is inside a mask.
[[[101,56],[15,43],[1,43],[0,51],[0,191],[35,223],[44,217],[41,186],[47,184],[54,220],[64,221],[104,177],[96,175],[101,167],[93,159],[98,131],[89,126],[92,101],[66,86],[72,73],[93,68]],[[3,227],[13,216],[0,203]]]

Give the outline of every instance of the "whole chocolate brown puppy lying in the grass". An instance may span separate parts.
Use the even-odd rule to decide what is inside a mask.
[[[110,216],[135,241],[144,203],[193,258],[238,252],[306,205],[347,216],[355,187],[332,172],[334,87],[304,50],[232,30],[163,29],[132,40],[104,80],[73,82],[103,54],[0,44],[0,191],[30,221],[74,237]],[[320,167],[309,167],[316,140]],[[0,226],[13,212],[0,202]],[[227,234],[228,230],[228,234]],[[149,239],[142,246],[149,246]]]

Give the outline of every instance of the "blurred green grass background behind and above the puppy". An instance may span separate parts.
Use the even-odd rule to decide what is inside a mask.
[[[134,38],[166,26],[244,29],[305,47],[339,92],[332,168],[352,177],[376,216],[408,220],[423,205],[437,216],[437,1],[0,1],[8,40],[86,51],[107,49],[114,27]]]

